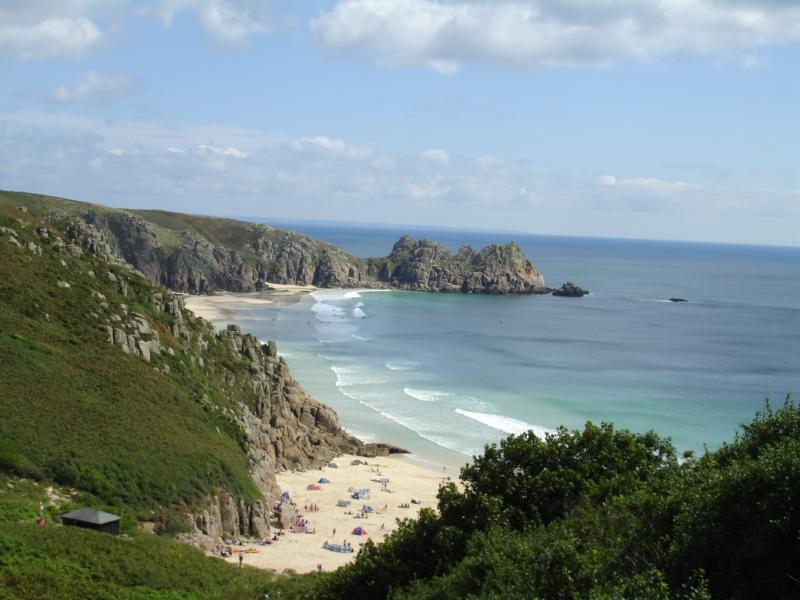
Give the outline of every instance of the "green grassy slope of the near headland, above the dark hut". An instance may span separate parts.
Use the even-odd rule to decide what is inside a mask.
[[[37,225],[0,204],[0,226],[16,232],[0,240],[0,465],[134,509],[216,487],[256,495],[237,431],[198,402],[203,393],[232,403],[236,390],[189,360],[167,317],[155,314],[153,286],[123,266],[57,250]],[[127,295],[109,273],[128,282]],[[110,346],[100,320],[125,310],[149,319],[174,356],[147,363]]]

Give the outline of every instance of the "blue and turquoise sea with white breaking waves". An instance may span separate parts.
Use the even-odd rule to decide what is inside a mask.
[[[778,405],[800,392],[800,248],[274,224],[359,256],[386,255],[404,233],[450,250],[513,239],[548,285],[591,290],[324,290],[288,308],[237,307],[235,320],[275,339],[346,428],[434,462],[586,421],[700,451],[732,439],[766,397]]]

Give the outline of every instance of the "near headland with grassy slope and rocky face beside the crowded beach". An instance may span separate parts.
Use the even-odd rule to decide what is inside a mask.
[[[397,450],[347,434],[274,342],[215,331],[127,262],[158,250],[137,217],[33,212],[0,197],[0,471],[209,546],[269,531],[280,470]]]

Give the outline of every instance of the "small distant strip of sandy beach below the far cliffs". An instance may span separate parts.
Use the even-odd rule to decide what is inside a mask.
[[[273,305],[276,307],[294,304],[305,294],[316,291],[313,285],[289,285],[270,283],[263,292],[217,292],[213,296],[184,295],[184,305],[198,317],[216,323],[230,321],[235,317],[237,305]]]

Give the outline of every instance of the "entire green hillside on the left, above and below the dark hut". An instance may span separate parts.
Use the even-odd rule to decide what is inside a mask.
[[[313,437],[281,394],[297,410],[321,409],[274,348],[176,308],[91,228],[71,230],[68,203],[54,214],[49,199],[24,199],[28,210],[0,195],[0,598],[262,598],[272,575],[139,533],[137,522],[183,533],[212,495],[241,510],[274,491],[275,461],[252,478],[244,412],[283,415],[317,453],[335,415],[320,412],[328,429]],[[52,500],[50,486],[72,492]],[[39,502],[55,503],[46,527],[35,524]],[[122,515],[126,536],[54,524],[87,505]]]

